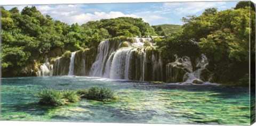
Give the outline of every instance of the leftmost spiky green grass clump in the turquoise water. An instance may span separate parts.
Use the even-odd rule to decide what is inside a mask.
[[[38,98],[41,98],[39,100],[39,104],[53,105],[53,106],[65,105],[65,100],[63,100],[63,95],[57,90],[43,89],[36,96]]]

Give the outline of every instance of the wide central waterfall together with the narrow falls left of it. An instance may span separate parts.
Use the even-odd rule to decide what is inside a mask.
[[[114,38],[101,41],[91,62],[90,49],[58,57],[53,75],[90,75],[110,79],[163,81],[161,54],[151,38]]]

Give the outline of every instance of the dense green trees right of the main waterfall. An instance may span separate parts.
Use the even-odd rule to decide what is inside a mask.
[[[162,52],[163,61],[173,62],[173,55],[186,55],[195,60],[195,57],[203,53],[209,59],[207,69],[214,73],[215,82],[244,80],[249,73],[250,36],[251,44],[255,44],[255,18],[250,19],[255,11],[248,3],[239,2],[235,9],[219,12],[209,8],[202,15],[182,18],[181,31],[153,40]],[[255,48],[252,48],[254,51]]]

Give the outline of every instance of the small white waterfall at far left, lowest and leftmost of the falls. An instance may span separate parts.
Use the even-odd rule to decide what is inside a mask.
[[[45,63],[43,63],[37,72],[38,76],[52,76],[53,75],[53,65],[49,63],[49,58],[46,57]]]

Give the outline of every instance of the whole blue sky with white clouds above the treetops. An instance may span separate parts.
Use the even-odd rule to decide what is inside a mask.
[[[129,16],[142,18],[150,25],[182,25],[182,17],[201,15],[209,7],[219,11],[235,7],[238,1],[223,2],[167,2],[167,3],[113,3],[113,4],[53,4],[34,5],[42,14],[68,24],[83,24],[88,21]],[[26,5],[5,5],[6,10],[18,7],[21,11]],[[29,5],[32,6],[32,5]]]

